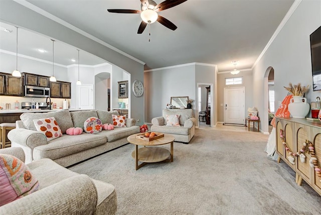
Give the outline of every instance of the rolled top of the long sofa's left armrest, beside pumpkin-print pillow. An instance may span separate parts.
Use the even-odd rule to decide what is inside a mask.
[[[31,149],[47,144],[47,138],[42,132],[29,129],[13,129],[8,133],[8,139]]]

